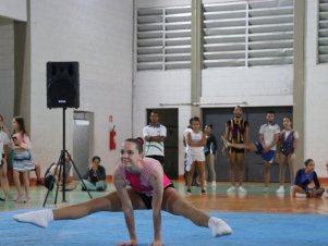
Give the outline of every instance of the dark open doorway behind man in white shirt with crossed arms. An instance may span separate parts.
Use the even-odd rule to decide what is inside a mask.
[[[177,180],[179,176],[178,109],[147,109],[147,124],[149,123],[149,115],[151,110],[156,110],[158,112],[160,124],[167,127],[163,171],[169,179]]]

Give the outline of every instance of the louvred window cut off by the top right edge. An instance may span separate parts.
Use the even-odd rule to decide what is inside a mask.
[[[328,63],[328,0],[318,2],[318,63]]]

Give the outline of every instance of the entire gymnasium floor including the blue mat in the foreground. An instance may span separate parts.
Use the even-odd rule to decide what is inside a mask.
[[[185,195],[185,186],[174,183]],[[291,198],[289,193],[277,196],[277,184],[271,184],[269,193],[263,193],[263,184],[246,184],[246,195],[227,195],[228,183],[217,183],[208,187],[207,195],[199,194],[199,187],[192,188],[186,199],[211,216],[222,218],[233,229],[230,236],[214,238],[208,229],[198,227],[181,217],[162,212],[162,241],[166,246],[327,246],[328,245],[328,198]],[[117,245],[129,238],[121,212],[98,212],[70,221],[54,221],[47,229],[17,223],[12,216],[40,209],[47,189],[32,187],[32,202],[16,204],[0,201],[0,246],[1,245]],[[109,185],[108,192],[113,190]],[[12,195],[15,194],[11,187]],[[53,207],[54,192],[48,197],[46,207]],[[93,197],[104,192],[93,192]],[[87,193],[77,186],[65,193],[58,193],[57,206],[66,206],[89,199]],[[151,211],[135,211],[135,224],[139,246],[153,242]],[[17,236],[19,235],[19,236]]]

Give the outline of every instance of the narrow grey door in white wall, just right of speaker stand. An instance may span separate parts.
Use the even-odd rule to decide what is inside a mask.
[[[94,132],[94,113],[74,111],[73,153],[74,163],[78,173],[83,175],[89,163],[92,155],[92,139]],[[80,180],[74,170],[73,177]]]

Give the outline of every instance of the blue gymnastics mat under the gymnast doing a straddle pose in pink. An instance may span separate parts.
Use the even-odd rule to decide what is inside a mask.
[[[0,212],[0,245],[117,245],[129,239],[122,212],[98,212],[78,220],[54,221],[47,229],[19,223],[13,214],[31,210]],[[233,234],[211,237],[182,217],[162,212],[166,246],[327,246],[328,216],[209,212],[223,219]],[[138,245],[153,242],[151,211],[135,211]]]

